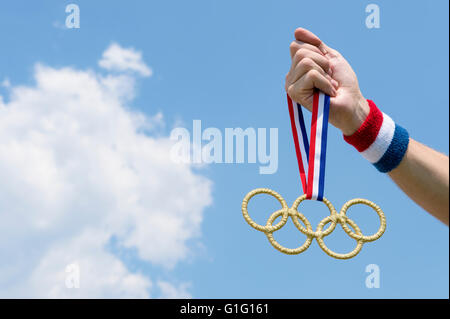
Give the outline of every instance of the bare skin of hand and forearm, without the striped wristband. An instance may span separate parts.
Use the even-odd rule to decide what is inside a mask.
[[[353,134],[370,110],[355,72],[338,51],[328,47],[312,32],[298,28],[294,35],[286,92],[310,111],[315,89],[328,94],[329,122],[344,135]],[[401,163],[388,174],[409,198],[448,226],[448,156],[410,138]]]

